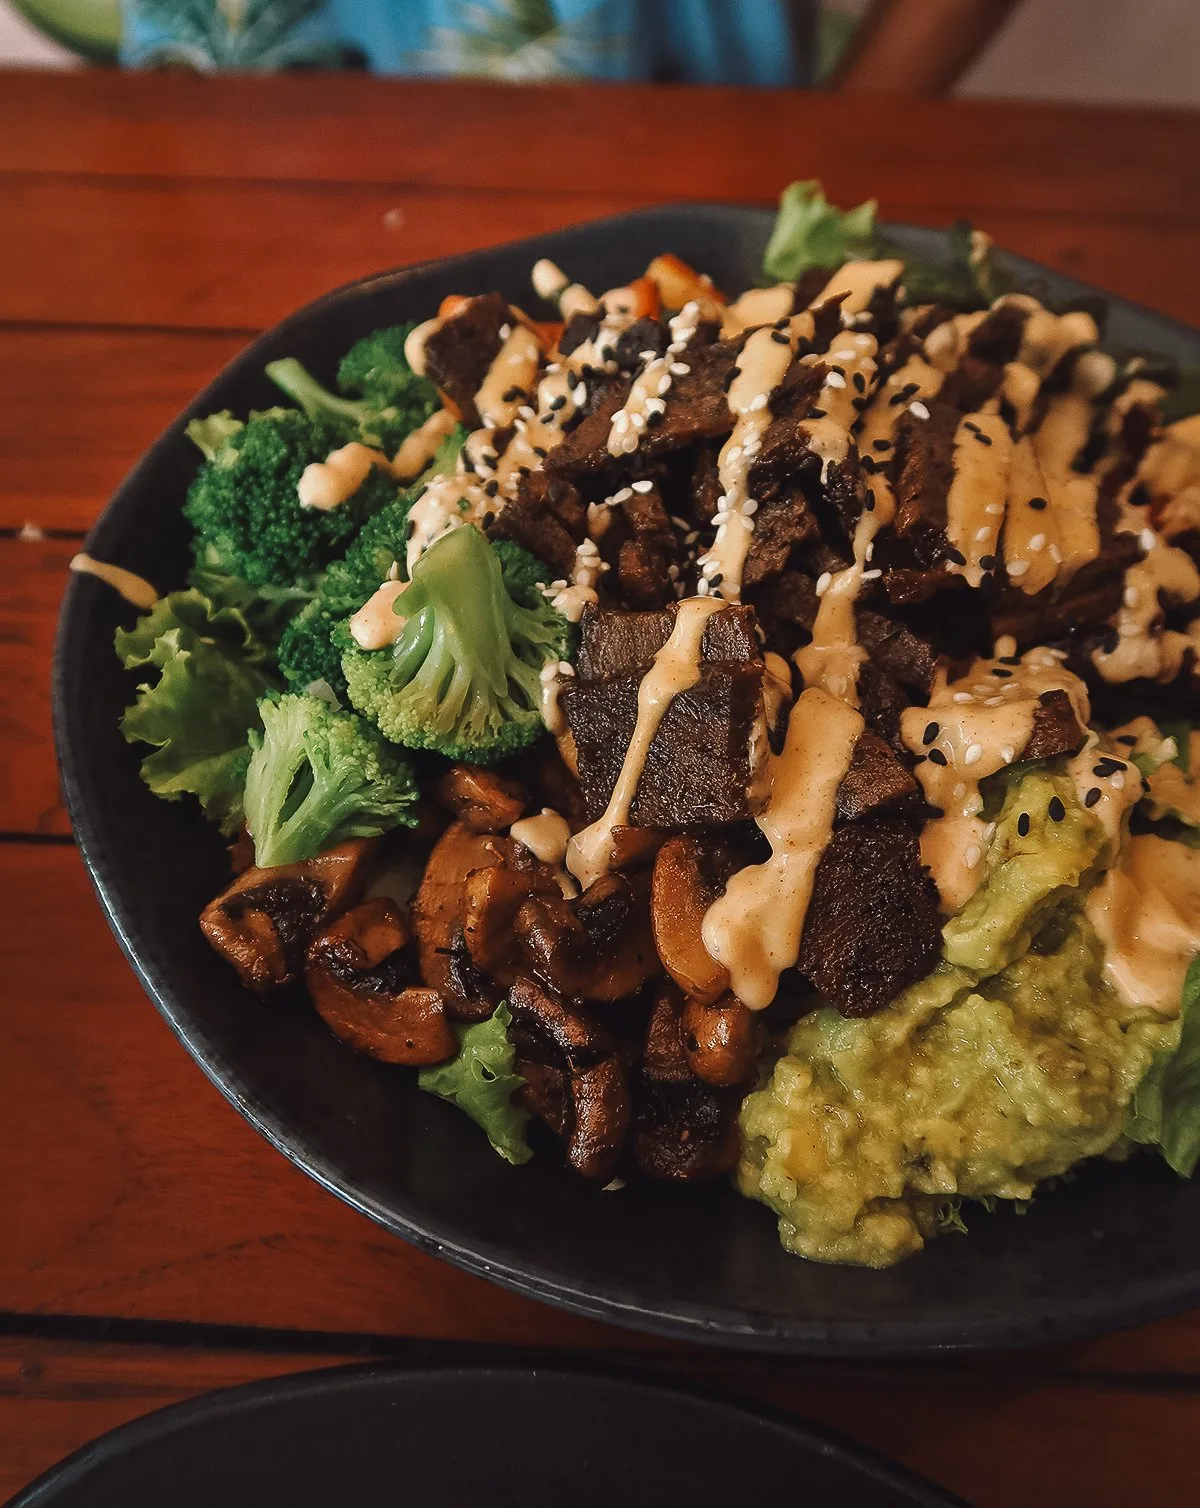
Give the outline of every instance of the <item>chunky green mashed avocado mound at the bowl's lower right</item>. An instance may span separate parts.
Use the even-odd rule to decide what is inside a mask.
[[[1104,846],[1066,775],[1025,774],[938,970],[876,1016],[793,1028],[742,1107],[739,1167],[787,1250],[886,1267],[920,1250],[947,1196],[1027,1199],[1120,1142],[1179,1025],[1102,980],[1082,899]]]

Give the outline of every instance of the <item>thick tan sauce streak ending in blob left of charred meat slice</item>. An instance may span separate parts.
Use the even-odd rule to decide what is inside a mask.
[[[770,798],[755,819],[770,858],[739,870],[704,915],[704,947],[728,968],[733,992],[751,1010],[770,1004],[779,974],[799,958],[838,786],[862,728],[859,712],[819,686],[801,695],[784,749],[770,760]]]

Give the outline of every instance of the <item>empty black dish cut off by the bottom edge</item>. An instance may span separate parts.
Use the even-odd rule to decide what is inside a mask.
[[[463,1449],[463,1446],[467,1449]],[[864,1451],[701,1393],[559,1368],[339,1368],[163,1408],[9,1508],[954,1508]]]

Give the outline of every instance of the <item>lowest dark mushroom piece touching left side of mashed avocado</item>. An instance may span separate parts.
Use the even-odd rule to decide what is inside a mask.
[[[647,1178],[695,1184],[719,1178],[737,1161],[742,1093],[695,1077],[683,1042],[681,1012],[678,992],[665,986],[650,1015],[632,1146],[633,1160]]]

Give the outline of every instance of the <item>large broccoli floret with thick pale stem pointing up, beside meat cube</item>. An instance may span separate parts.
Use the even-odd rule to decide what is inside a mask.
[[[565,659],[571,627],[543,599],[505,588],[493,546],[451,529],[413,567],[395,645],[342,656],[350,701],[393,742],[488,765],[543,731],[538,674]]]

